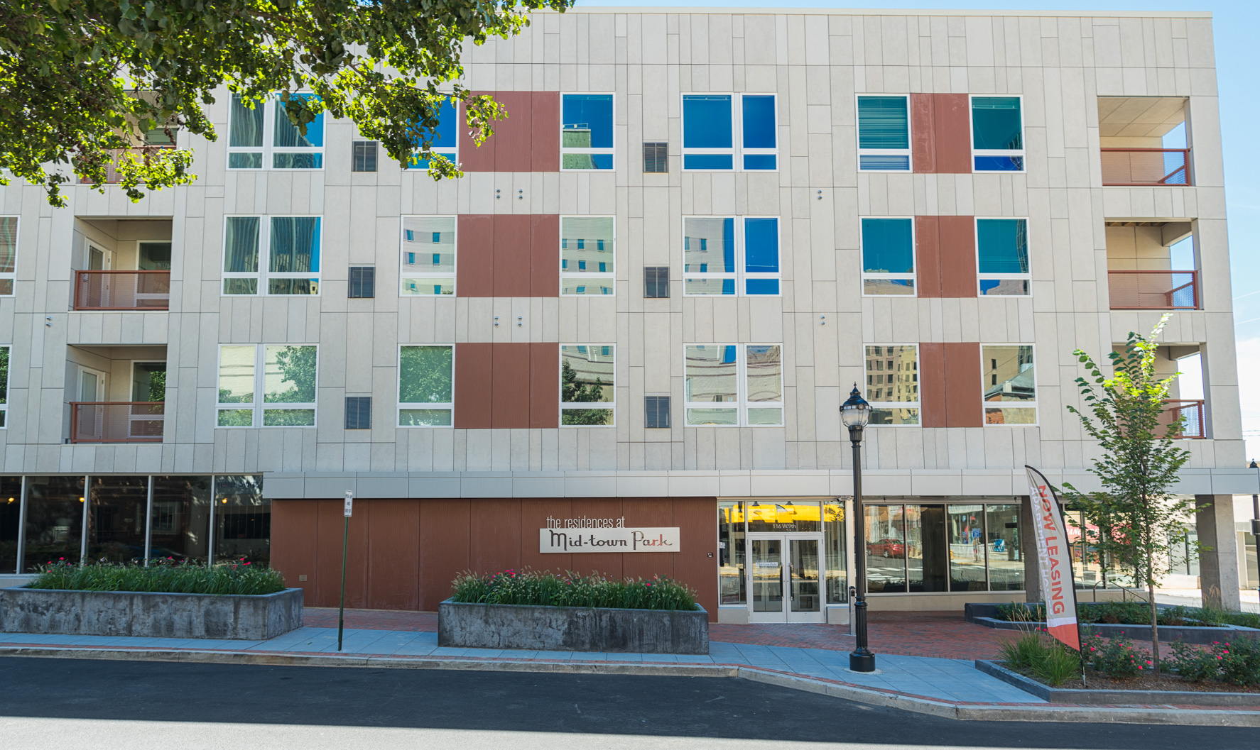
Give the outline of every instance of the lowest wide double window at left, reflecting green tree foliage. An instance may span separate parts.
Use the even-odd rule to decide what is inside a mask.
[[[315,427],[318,365],[314,345],[220,345],[218,427]]]

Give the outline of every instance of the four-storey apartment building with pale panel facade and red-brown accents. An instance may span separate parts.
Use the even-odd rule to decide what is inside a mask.
[[[445,113],[457,180],[223,92],[194,185],[0,188],[3,573],[246,556],[330,605],[353,492],[353,607],[533,566],[847,622],[856,551],[874,608],[1022,600],[1024,464],[1092,486],[1072,351],[1172,312],[1196,584],[1237,604],[1208,14],[577,9],[465,62],[509,117]]]

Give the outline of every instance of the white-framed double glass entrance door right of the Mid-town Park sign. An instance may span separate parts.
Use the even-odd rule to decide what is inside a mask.
[[[752,623],[822,623],[822,540],[815,536],[750,535],[748,589]]]

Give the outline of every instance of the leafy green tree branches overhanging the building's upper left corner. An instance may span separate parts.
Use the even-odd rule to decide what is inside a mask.
[[[525,13],[573,0],[5,0],[0,3],[0,185],[11,172],[66,204],[115,164],[132,200],[193,181],[193,156],[146,137],[215,140],[203,106],[227,86],[275,94],[302,135],[320,112],[354,121],[404,164],[432,143],[446,99],[481,142],[507,113],[459,83],[465,39],[509,38]],[[312,92],[314,97],[294,96]],[[129,148],[115,157],[117,150]],[[435,177],[457,176],[446,159]]]

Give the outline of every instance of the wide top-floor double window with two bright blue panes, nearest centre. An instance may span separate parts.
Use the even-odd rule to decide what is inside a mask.
[[[775,94],[683,94],[683,170],[774,171]]]

